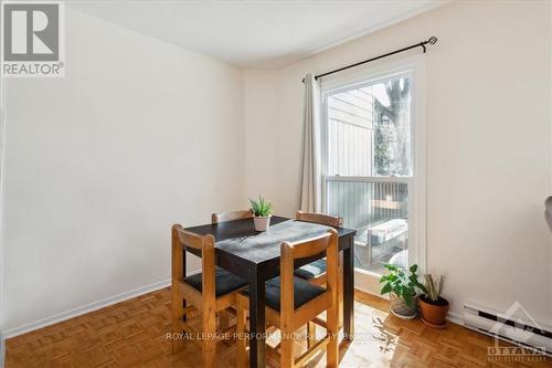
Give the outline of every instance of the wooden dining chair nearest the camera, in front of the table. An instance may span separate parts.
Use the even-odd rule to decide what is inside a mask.
[[[326,287],[294,276],[294,263],[325,252],[327,257]],[[326,234],[296,243],[280,245],[280,276],[265,285],[266,322],[279,328],[282,340],[279,354],[269,345],[268,354],[279,358],[280,367],[304,366],[321,349],[327,351],[327,367],[338,366],[338,234],[328,230]],[[246,313],[250,306],[248,288],[237,294],[237,366],[247,366]],[[297,330],[308,323],[318,323],[317,316],[327,313],[323,326],[327,334],[308,344],[307,351],[296,357],[294,353]],[[315,337],[316,338],[316,337]]]

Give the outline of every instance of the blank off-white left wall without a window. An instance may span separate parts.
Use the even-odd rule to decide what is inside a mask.
[[[70,9],[66,23],[66,77],[7,85],[9,334],[164,284],[170,225],[244,203],[242,72]]]

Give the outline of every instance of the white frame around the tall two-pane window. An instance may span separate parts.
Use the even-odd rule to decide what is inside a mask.
[[[412,78],[411,93],[411,176],[408,177],[362,177],[329,175],[328,104],[327,98],[351,88],[372,85],[399,75],[407,74]],[[415,55],[392,62],[379,62],[370,67],[360,67],[342,72],[338,76],[325,77],[320,83],[320,147],[321,147],[321,203],[322,211],[328,211],[328,182],[400,182],[408,188],[408,263],[416,263],[421,272],[426,272],[425,239],[425,61],[423,55]],[[372,157],[373,160],[373,157]],[[358,272],[373,272],[355,269]]]

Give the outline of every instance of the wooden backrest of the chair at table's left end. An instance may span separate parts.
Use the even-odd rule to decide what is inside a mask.
[[[201,252],[202,265],[202,295],[203,303],[214,303],[215,299],[215,284],[214,284],[214,236],[211,234],[199,235],[197,233],[187,231],[180,224],[172,225],[172,252],[173,260],[181,259],[185,262],[185,256],[182,254],[174,254],[174,252],[185,252],[187,249],[195,249]],[[173,262],[172,275],[173,278],[182,280],[185,277],[183,274],[183,264]]]

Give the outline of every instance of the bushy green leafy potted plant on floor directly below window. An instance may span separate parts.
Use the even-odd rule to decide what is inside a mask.
[[[416,288],[423,285],[417,280],[417,265],[413,264],[408,270],[394,264],[385,264],[389,273],[381,276],[383,284],[381,294],[390,294],[391,313],[399,318],[412,319],[416,316]]]

